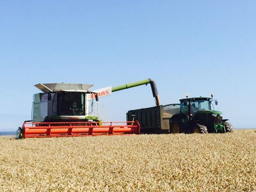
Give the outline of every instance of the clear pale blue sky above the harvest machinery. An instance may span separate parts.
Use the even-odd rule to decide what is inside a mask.
[[[1,1],[0,131],[31,116],[37,83],[94,90],[153,78],[162,104],[214,94],[235,128],[255,128],[255,1]],[[105,121],[151,107],[150,86],[100,99]]]

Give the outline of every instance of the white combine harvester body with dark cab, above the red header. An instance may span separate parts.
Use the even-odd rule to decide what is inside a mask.
[[[59,119],[84,121],[92,113],[89,111],[91,106],[89,101],[93,102],[92,98],[97,95],[96,92],[89,91],[93,85],[40,83],[35,86],[43,93],[34,94],[32,117],[34,122],[54,122]]]

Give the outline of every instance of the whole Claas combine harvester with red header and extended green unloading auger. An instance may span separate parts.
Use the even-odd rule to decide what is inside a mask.
[[[18,128],[17,138],[140,134],[138,121],[101,122],[99,117],[90,114],[94,99],[98,101],[111,92],[145,84],[151,85],[159,106],[156,85],[151,79],[96,91],[89,91],[93,85],[87,84],[37,84],[35,86],[43,93],[34,94],[32,120]]]

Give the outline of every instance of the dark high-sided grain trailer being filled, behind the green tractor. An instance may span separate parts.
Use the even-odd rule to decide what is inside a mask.
[[[129,110],[127,121],[138,120],[141,133],[169,133],[170,119],[180,112],[180,104],[170,104],[142,109]]]

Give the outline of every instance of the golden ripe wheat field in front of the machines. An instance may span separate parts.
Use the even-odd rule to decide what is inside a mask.
[[[256,191],[255,131],[0,145],[0,191]]]

